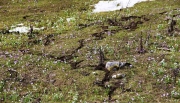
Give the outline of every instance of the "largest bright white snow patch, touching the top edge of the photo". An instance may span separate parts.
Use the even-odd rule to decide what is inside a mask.
[[[153,1],[153,0],[108,0],[108,1],[99,1],[97,4],[94,5],[95,9],[93,10],[94,13],[97,12],[107,12],[107,11],[114,11],[120,10],[126,7],[133,7],[136,3],[142,1]]]

